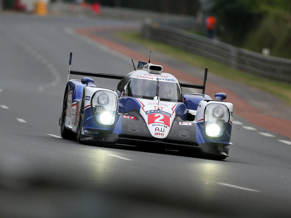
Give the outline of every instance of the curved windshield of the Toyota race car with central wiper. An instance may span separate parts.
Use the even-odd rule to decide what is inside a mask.
[[[153,99],[156,96],[157,80],[130,78],[124,87],[124,95],[136,98]],[[159,97],[161,101],[182,102],[183,93],[179,83],[159,80]]]

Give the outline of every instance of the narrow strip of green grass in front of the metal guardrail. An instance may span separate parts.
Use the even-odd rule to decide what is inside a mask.
[[[201,70],[204,70],[204,67],[207,66],[211,69],[209,70],[210,73],[272,93],[279,97],[283,102],[291,105],[290,83],[264,79],[240,70],[232,69],[231,67],[220,64],[217,61],[189,53],[180,48],[159,41],[144,39],[140,32],[120,31],[116,32],[115,35],[123,40],[136,42],[150,49],[154,48],[159,52],[173,56],[188,64],[200,68]]]

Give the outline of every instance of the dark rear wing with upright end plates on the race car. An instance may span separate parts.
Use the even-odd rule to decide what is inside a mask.
[[[108,73],[91,73],[91,72],[71,70],[72,54],[73,53],[70,52],[67,82],[70,80],[70,74],[88,76],[88,77],[93,76],[93,77],[100,77],[100,78],[117,79],[117,80],[122,80],[124,77],[126,77],[126,76],[122,76],[122,75],[115,75],[115,74],[108,74]],[[202,89],[202,94],[205,94],[207,72],[208,72],[208,68],[205,67],[203,85],[195,85],[195,84],[180,83],[180,82],[179,82],[179,84],[181,87],[185,87],[185,88]]]

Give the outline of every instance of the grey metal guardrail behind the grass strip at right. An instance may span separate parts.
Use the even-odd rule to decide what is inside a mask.
[[[145,24],[143,36],[167,42],[191,53],[229,65],[234,69],[291,83],[291,59],[264,56],[165,25]]]

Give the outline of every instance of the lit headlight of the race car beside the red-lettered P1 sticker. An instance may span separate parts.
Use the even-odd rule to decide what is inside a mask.
[[[226,105],[211,103],[204,112],[205,134],[208,137],[221,137],[229,123],[229,110]]]

